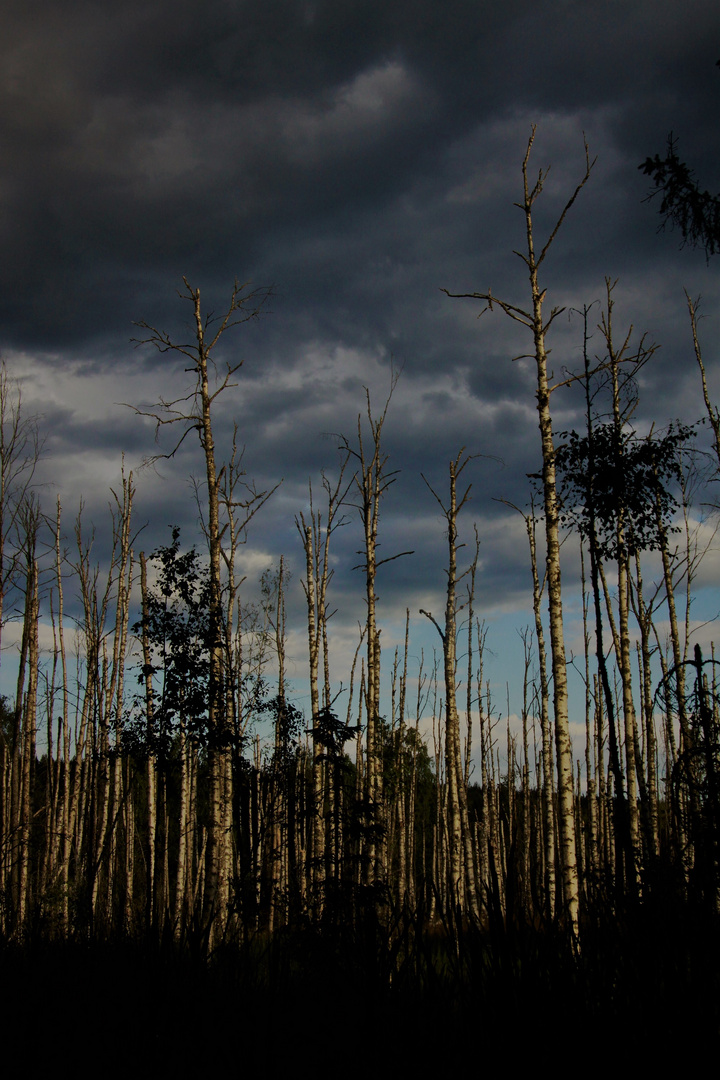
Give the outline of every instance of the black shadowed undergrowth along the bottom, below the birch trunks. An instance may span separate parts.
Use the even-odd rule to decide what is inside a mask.
[[[717,1047],[720,922],[663,897],[585,913],[580,949],[555,926],[453,929],[407,912],[256,934],[208,960],[137,941],[9,942],[0,1009],[35,1067],[79,1076],[525,1070],[566,1053],[582,1055],[572,1069],[647,1066]]]

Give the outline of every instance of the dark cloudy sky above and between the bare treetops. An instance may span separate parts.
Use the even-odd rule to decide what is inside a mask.
[[[477,607],[494,627],[499,684],[512,677],[503,656],[515,656],[514,627],[531,620],[527,549],[519,516],[493,500],[525,507],[526,473],[539,468],[533,366],[511,363],[531,341],[498,312],[478,322],[479,305],[441,288],[528,303],[513,204],[531,125],[531,172],[552,166],[540,239],[582,176],[585,133],[597,163],[544,268],[547,303],[582,308],[602,299],[606,275],[619,279],[619,330],[631,323],[661,346],[636,422],[698,418],[682,291],[704,297],[717,399],[720,261],[657,232],[638,165],[674,132],[680,157],[720,190],[719,31],[717,0],[11,0],[0,44],[0,347],[42,417],[44,504],[59,495],[69,529],[83,497],[101,535],[124,453],[136,522],[147,523],[138,546],[165,542],[173,524],[194,540],[187,480],[202,475],[199,445],[188,440],[173,462],[138,473],[153,429],[121,404],[179,396],[188,376],[172,355],[133,348],[133,322],[181,339],[184,274],[216,311],[235,278],[272,286],[266,313],[220,357],[244,366],[218,402],[218,453],[229,453],[235,421],[248,474],[259,487],[283,478],[243,569],[254,580],[285,553],[300,611],[295,515],[308,480],[320,486],[320,470],[336,467],[331,433],[352,440],[364,388],[381,411],[394,364],[385,448],[399,473],[380,539],[384,555],[416,554],[381,571],[386,646],[406,606],[416,652],[433,644],[417,611],[441,604],[445,537],[420,474],[444,488],[465,446],[478,455],[465,472],[465,523],[481,540]],[[574,368],[582,323],[563,315],[556,327],[555,369]],[[558,392],[556,429],[579,423],[580,406],[576,390]],[[337,549],[343,654],[363,617],[361,576],[350,572],[358,546],[352,517]],[[717,558],[707,567],[714,586]],[[300,684],[299,636],[295,645]]]

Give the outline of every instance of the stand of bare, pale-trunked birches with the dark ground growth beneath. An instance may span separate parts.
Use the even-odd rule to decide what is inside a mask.
[[[519,728],[485,673],[492,624],[476,603],[472,447],[458,447],[441,486],[425,482],[447,540],[444,608],[408,608],[404,639],[384,646],[378,589],[412,549],[411,535],[398,550],[381,542],[395,497],[383,436],[397,372],[384,401],[358,402],[356,430],[337,437],[336,470],[311,478],[287,554],[301,573],[290,577],[281,558],[253,582],[243,544],[276,494],[246,474],[242,432],[230,446],[216,441],[217,403],[242,394],[243,378],[216,356],[261,312],[264,293],[235,284],[213,321],[185,280],[189,345],[138,324],[168,386],[191,372],[189,397],[169,391],[153,407],[131,404],[138,422],[157,423],[163,454],[196,446],[194,543],[171,528],[165,545],[144,550],[133,515],[141,480],[124,465],[109,496],[109,554],[96,562],[82,510],[68,516],[33,482],[43,432],[3,366],[0,613],[3,635],[13,620],[22,626],[16,649],[2,643],[2,665],[16,677],[0,714],[9,985],[44,977],[42,956],[62,994],[60,973],[81,955],[97,964],[90,983],[126,1017],[133,994],[150,993],[128,972],[147,972],[153,957],[175,972],[165,990],[176,980],[191,997],[202,985],[226,1018],[242,1002],[243,1023],[263,1038],[273,1022],[260,1001],[284,1015],[297,1009],[293,1039],[304,1031],[336,1050],[357,1040],[357,1010],[367,1010],[379,1053],[391,1023],[378,1017],[402,1016],[418,1062],[465,1059],[454,1055],[466,1054],[472,1023],[532,1024],[538,1038],[554,1024],[569,1039],[588,1015],[614,1023],[630,1002],[640,1026],[667,1021],[665,1008],[684,1023],[692,1002],[692,1023],[717,1036],[720,660],[693,639],[691,608],[717,543],[720,413],[692,297],[695,417],[634,427],[653,347],[616,325],[610,279],[576,324],[580,362],[549,368],[546,341],[561,309],[546,299],[545,258],[593,162],[554,229],[538,237],[543,176],[531,178],[531,146],[518,204],[527,303],[489,291],[447,299],[488,309],[478,341],[493,320],[520,324],[536,366],[538,471],[527,504],[507,508],[527,530],[528,629],[512,688]],[[584,419],[562,431],[554,403],[568,387],[582,395]],[[338,671],[341,527],[355,530],[365,620],[351,666]],[[572,559],[582,565],[584,651],[571,657],[562,567]],[[300,591],[309,707],[287,676],[288,597]],[[436,648],[418,663],[420,625]],[[581,693],[569,689],[570,664]],[[110,976],[97,974],[118,966],[123,987],[135,981],[122,1005]],[[90,1007],[94,991],[84,993]],[[182,1022],[171,1003],[163,1010],[181,1056]],[[198,1021],[206,1032],[207,1010]],[[431,1049],[423,1017],[440,1014],[457,1022],[456,1041]],[[49,1029],[58,1023],[49,1018]],[[253,1054],[263,1059],[258,1048],[245,1061]]]

